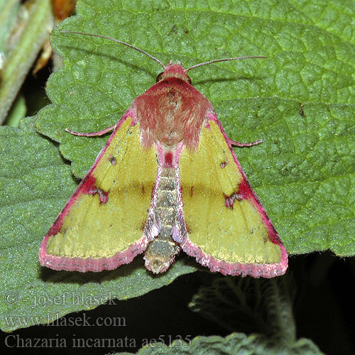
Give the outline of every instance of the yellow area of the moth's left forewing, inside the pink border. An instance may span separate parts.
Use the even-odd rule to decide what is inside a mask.
[[[48,239],[48,254],[109,258],[139,241],[157,166],[154,148],[141,147],[138,124],[131,126],[131,119],[126,119],[82,189],[72,197],[74,202],[62,217],[60,231]],[[97,193],[85,192],[90,181]],[[108,194],[106,202],[100,201],[104,194]]]

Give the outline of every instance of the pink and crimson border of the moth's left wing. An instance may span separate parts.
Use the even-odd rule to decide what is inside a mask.
[[[131,244],[126,251],[116,253],[114,256],[109,258],[70,258],[66,256],[55,256],[47,253],[47,241],[50,236],[53,236],[58,233],[60,228],[62,227],[63,218],[67,215],[70,211],[70,207],[72,204],[80,197],[81,194],[88,194],[92,193],[92,188],[94,184],[94,179],[92,177],[92,172],[97,166],[97,163],[102,158],[102,155],[107,150],[107,147],[110,145],[112,139],[114,138],[116,132],[118,131],[121,124],[127,119],[127,117],[132,117],[132,124],[135,124],[135,111],[126,111],[124,116],[117,122],[116,126],[114,126],[114,131],[111,133],[109,141],[107,141],[102,151],[100,151],[99,155],[90,168],[87,175],[84,176],[82,181],[77,187],[77,190],[73,193],[72,197],[68,200],[65,207],[62,209],[62,212],[58,214],[58,217],[55,219],[55,222],[50,227],[48,233],[45,235],[42,243],[40,244],[40,251],[39,251],[39,261],[41,266],[47,266],[48,268],[52,268],[53,270],[57,271],[80,271],[82,273],[86,271],[94,271],[99,272],[103,270],[114,270],[118,266],[126,263],[131,263],[133,258],[135,258],[138,254],[143,253],[146,250],[146,246],[148,244],[148,239],[146,234],[143,234],[142,237],[136,243]],[[99,133],[107,133],[107,129],[104,131],[97,132],[97,136]],[[83,134],[84,135],[84,134]],[[92,135],[94,135],[92,133]],[[101,196],[100,196],[101,198]],[[102,197],[105,198],[105,197]]]

